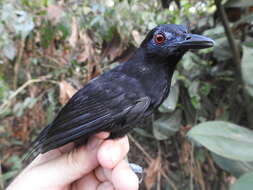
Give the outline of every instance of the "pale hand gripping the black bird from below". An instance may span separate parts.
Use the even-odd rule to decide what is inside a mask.
[[[99,133],[86,146],[70,143],[39,155],[6,190],[137,190],[138,177],[124,160],[127,137]]]

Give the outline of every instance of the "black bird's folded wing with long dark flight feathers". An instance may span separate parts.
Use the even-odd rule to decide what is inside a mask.
[[[45,153],[80,137],[115,131],[118,122],[140,117],[149,104],[148,97],[137,98],[136,94],[123,93],[120,88],[111,88],[110,85],[99,88],[91,83],[79,90],[39,134],[32,152]]]

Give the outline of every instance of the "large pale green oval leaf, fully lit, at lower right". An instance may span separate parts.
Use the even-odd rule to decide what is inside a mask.
[[[253,161],[253,132],[249,129],[229,122],[209,121],[196,125],[187,135],[223,157]]]

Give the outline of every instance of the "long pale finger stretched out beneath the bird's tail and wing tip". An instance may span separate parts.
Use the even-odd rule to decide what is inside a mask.
[[[29,181],[36,182],[36,187],[70,184],[98,166],[97,151],[101,143],[101,139],[93,137],[86,147],[81,146],[56,159],[38,165],[26,172],[26,177]]]

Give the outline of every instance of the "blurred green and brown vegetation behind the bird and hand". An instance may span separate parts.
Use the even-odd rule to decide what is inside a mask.
[[[140,189],[252,189],[252,0],[1,0],[0,189],[73,93],[162,23],[216,44],[184,56],[154,121],[131,133]]]

